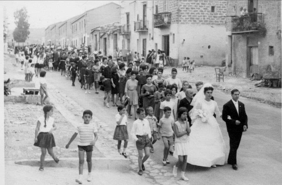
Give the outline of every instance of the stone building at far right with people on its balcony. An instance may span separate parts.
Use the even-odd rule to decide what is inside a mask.
[[[239,17],[240,7],[249,14]],[[226,64],[232,73],[281,78],[281,1],[227,1],[227,9]]]

